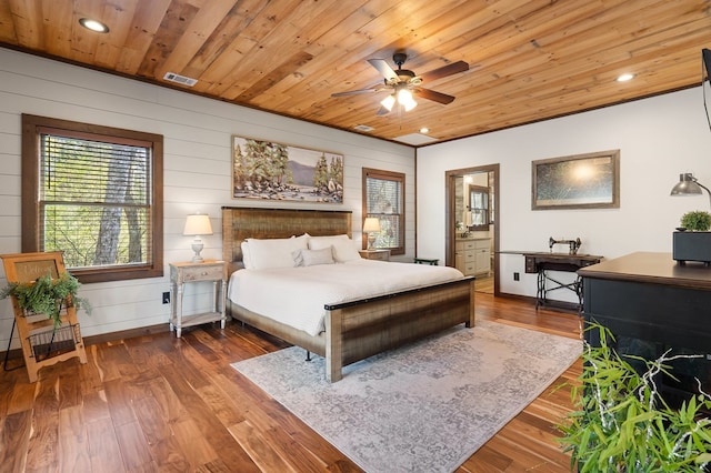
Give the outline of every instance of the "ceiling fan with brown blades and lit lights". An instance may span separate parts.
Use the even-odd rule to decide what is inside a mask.
[[[413,93],[423,99],[447,104],[454,100],[453,95],[425,89],[420,87],[420,84],[469,70],[469,64],[467,62],[457,61],[417,76],[411,70],[402,69],[402,64],[404,64],[407,59],[408,54],[404,52],[395,52],[392,56],[392,61],[398,66],[397,70],[393,70],[384,59],[369,59],[368,62],[370,66],[378,69],[378,72],[385,78],[383,84],[378,84],[368,89],[337,92],[332,93],[331,97],[389,91],[391,93],[380,102],[382,107],[378,110],[379,115],[390,112],[395,103],[401,104],[405,111],[412,110],[418,104],[412,97]]]

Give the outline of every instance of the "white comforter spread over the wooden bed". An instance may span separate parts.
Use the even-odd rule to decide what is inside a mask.
[[[239,270],[228,298],[278,322],[317,335],[324,330],[324,304],[381,295],[463,278],[454,268],[354,260],[338,264]]]

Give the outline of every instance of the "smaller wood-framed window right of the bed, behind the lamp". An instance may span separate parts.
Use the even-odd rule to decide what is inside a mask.
[[[404,254],[404,174],[363,168],[363,220],[380,220],[374,246]],[[363,248],[368,235],[363,234]]]

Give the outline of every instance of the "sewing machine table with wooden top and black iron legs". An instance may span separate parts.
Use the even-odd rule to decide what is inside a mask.
[[[602,256],[591,254],[570,253],[523,253],[525,258],[525,272],[538,273],[538,290],[535,293],[535,309],[540,305],[551,304],[548,293],[559,289],[567,289],[578,296],[578,306],[582,308],[582,280],[575,276],[572,282],[564,283],[553,278],[549,271],[562,271],[574,273],[579,269],[599,263]]]

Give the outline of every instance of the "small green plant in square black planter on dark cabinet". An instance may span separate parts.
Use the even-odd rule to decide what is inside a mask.
[[[694,210],[681,217],[672,238],[672,258],[679,264],[698,261],[711,265],[711,213]]]

